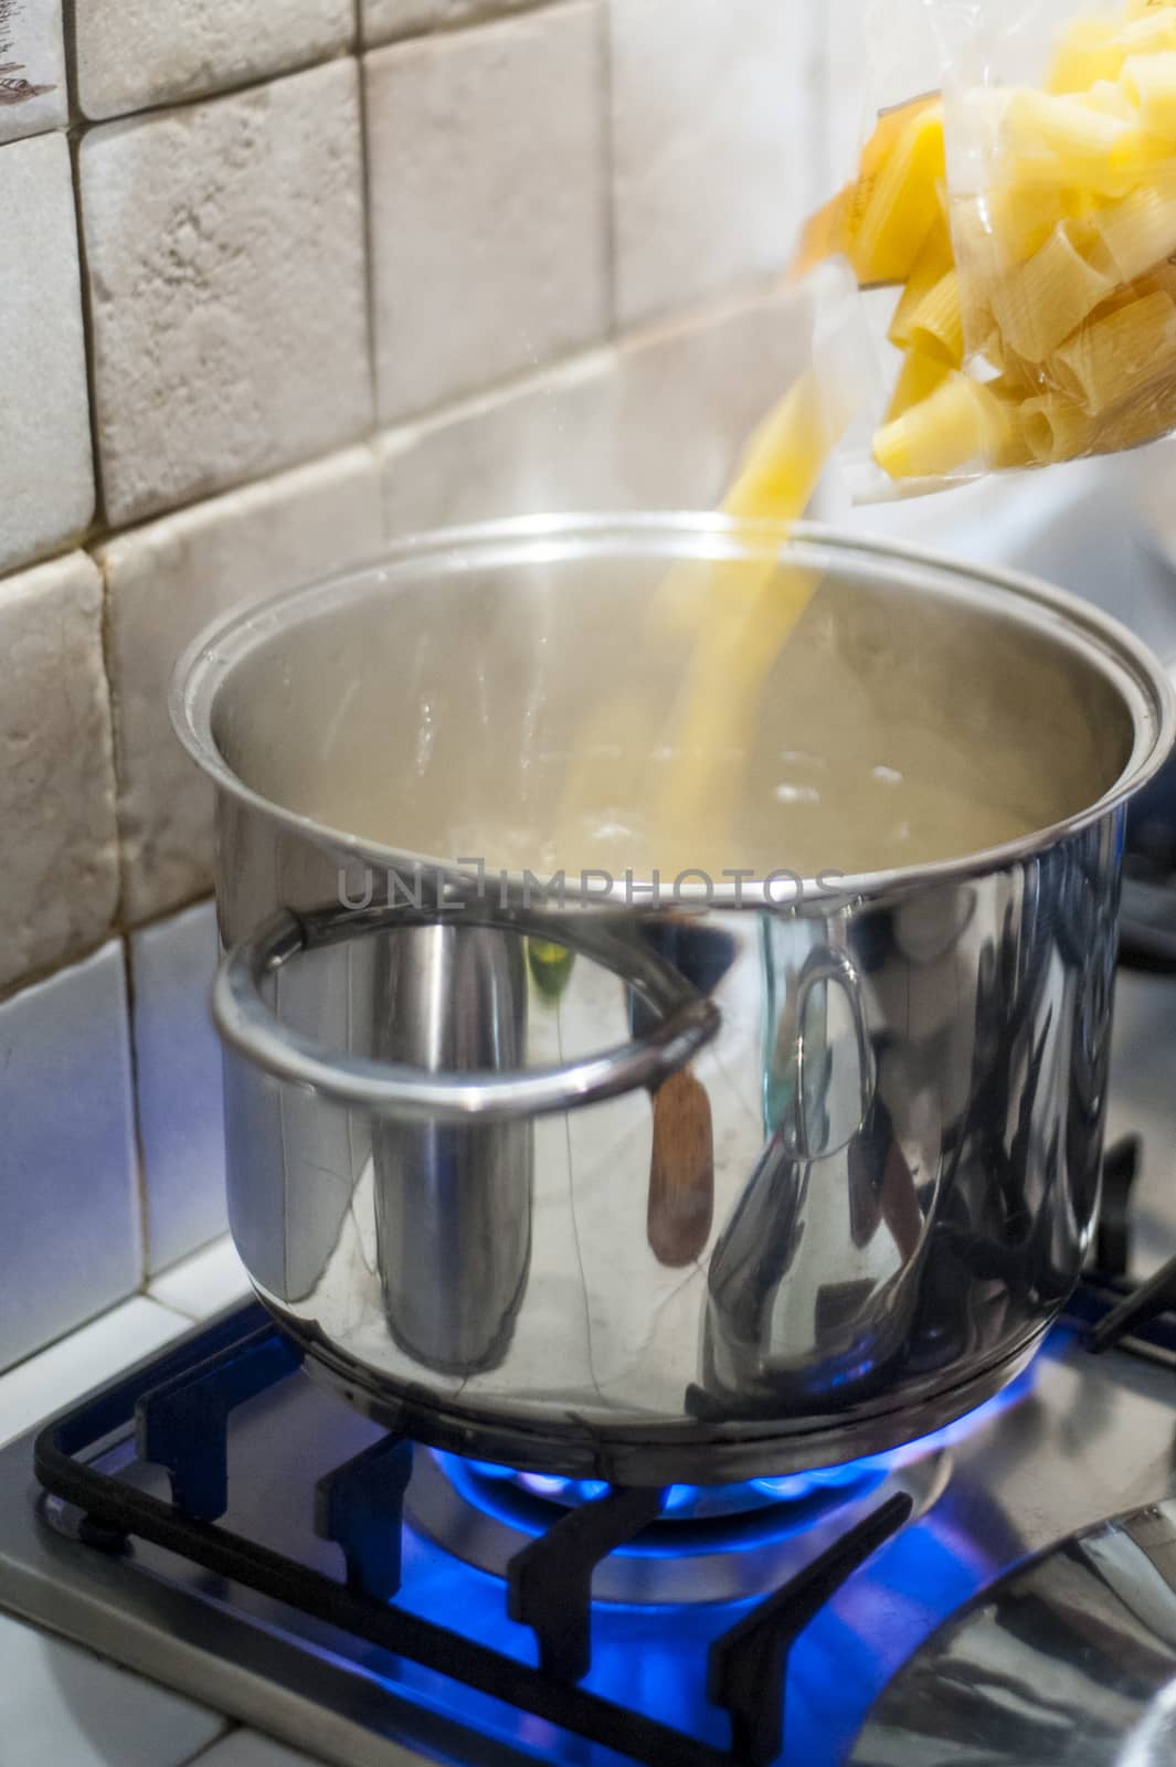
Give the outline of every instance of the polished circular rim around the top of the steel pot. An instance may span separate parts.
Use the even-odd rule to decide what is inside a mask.
[[[374,558],[351,565],[348,571],[332,573],[293,590],[237,608],[210,622],[180,656],[168,693],[168,710],[173,728],[187,749],[189,756],[212,779],[212,783],[235,799],[240,806],[256,811],[288,829],[316,846],[328,850],[344,864],[362,861],[374,869],[404,871],[420,866],[422,873],[443,878],[447,884],[468,889],[475,885],[479,894],[484,880],[471,861],[461,862],[431,853],[413,853],[387,846],[364,836],[335,829],[314,816],[302,815],[274,802],[261,792],[249,786],[226,762],[212,733],[212,717],[217,694],[231,677],[233,668],[249,652],[253,641],[283,624],[293,611],[320,610],[332,601],[351,599],[360,585],[369,585],[380,573],[387,576],[388,588],[396,590],[396,574],[403,576],[404,587],[415,580],[415,567],[429,560],[441,560],[447,555],[484,553],[493,555],[503,546],[523,546],[526,550],[554,548],[551,558],[567,557],[567,548],[576,542],[602,548],[609,541],[645,542],[643,550],[662,553],[667,562],[675,558],[697,558],[699,542],[706,542],[705,557],[747,557],[754,544],[763,553],[765,546],[773,546],[777,555],[800,553],[796,562],[818,564],[819,555],[833,553],[842,557],[878,558],[890,565],[920,565],[939,573],[945,580],[959,583],[961,588],[991,588],[999,592],[1012,608],[1019,611],[1022,622],[1037,624],[1040,631],[1054,629],[1058,640],[1079,648],[1088,664],[1100,670],[1121,694],[1125,709],[1132,717],[1134,747],[1127,767],[1119,777],[1093,804],[1077,811],[1063,822],[1019,836],[999,846],[964,853],[955,859],[941,859],[931,864],[901,866],[885,871],[865,871],[855,875],[819,873],[814,878],[795,880],[793,873],[777,873],[775,878],[788,876],[793,894],[786,903],[772,892],[773,880],[738,880],[729,889],[687,884],[675,885],[673,905],[713,908],[800,908],[805,903],[821,903],[826,910],[830,898],[862,899],[893,894],[923,885],[954,884],[984,876],[1006,866],[1031,861],[1061,839],[1089,829],[1109,813],[1125,806],[1169,758],[1176,746],[1176,686],[1172,677],[1160,664],[1158,657],[1127,626],[1102,610],[1082,601],[1068,590],[1056,588],[1035,576],[973,565],[968,560],[954,558],[950,553],[934,548],[909,546],[906,542],[886,541],[869,534],[853,534],[846,528],[825,527],[821,523],[777,523],[777,521],[736,521],[727,516],[710,512],[666,511],[639,514],[551,514],[519,516],[501,521],[482,521],[452,528],[411,534],[390,542]],[[662,542],[660,546],[657,542]],[[690,544],[694,542],[694,544]],[[720,548],[715,551],[715,548]],[[807,558],[807,551],[816,553]],[[493,876],[503,878],[503,889],[517,892],[533,889],[526,873],[503,868]],[[593,873],[588,873],[593,876]],[[600,878],[600,873],[595,873]],[[835,882],[832,882],[835,880]],[[645,891],[643,891],[645,884]],[[667,885],[669,880],[664,880]],[[798,887],[796,887],[798,885]],[[611,889],[588,889],[581,880],[567,880],[565,899],[583,903],[592,908],[627,906],[634,908],[634,896],[652,898],[648,880],[627,884],[614,880]],[[637,906],[669,906],[662,896],[660,903],[641,899]]]

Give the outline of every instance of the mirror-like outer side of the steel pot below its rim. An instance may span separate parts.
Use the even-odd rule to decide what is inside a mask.
[[[230,841],[240,815],[226,806]],[[1024,1364],[1089,1242],[1119,845],[1114,811],[964,884],[828,915],[690,915],[727,961],[720,1035],[692,1062],[715,1225],[685,1270],[648,1240],[645,1090],[505,1129],[422,1129],[230,1053],[245,1265],[357,1403],[489,1458],[706,1483],[934,1430]],[[562,919],[570,949],[577,921],[597,915]],[[521,949],[505,958],[516,935],[457,922],[443,937],[470,945],[466,975],[494,942],[512,1058],[625,1037],[629,991],[592,956],[553,998]],[[636,937],[664,944],[664,926]],[[321,1037],[321,1002],[350,1000],[335,1046],[380,1053],[373,1002],[406,937],[436,929],[284,965],[272,1011]],[[503,1133],[526,1140],[514,1170]],[[410,1329],[422,1306],[433,1323]]]

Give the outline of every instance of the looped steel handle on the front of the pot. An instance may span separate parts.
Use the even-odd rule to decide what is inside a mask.
[[[429,1124],[486,1124],[547,1117],[643,1088],[657,1090],[690,1062],[717,1034],[722,1014],[664,959],[618,937],[604,922],[584,924],[560,944],[604,963],[659,1012],[646,1037],[590,1055],[562,1067],[517,1073],[431,1073],[366,1057],[337,1055],[283,1025],[268,1005],[261,982],[284,963],[321,945],[360,933],[404,926],[436,926],[452,915],[417,908],[328,908],[295,915],[288,910],[235,945],[222,959],[212,988],[212,1018],[228,1050],[290,1085],[320,1092],[332,1103],[371,1110],[380,1117]],[[590,922],[590,917],[584,917]],[[501,928],[535,938],[553,938],[553,922],[517,910],[479,910],[464,924]]]

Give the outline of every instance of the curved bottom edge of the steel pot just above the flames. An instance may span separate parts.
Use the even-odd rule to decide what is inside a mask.
[[[521,1419],[438,1403],[422,1389],[381,1385],[378,1376],[343,1355],[304,1320],[261,1293],[286,1334],[305,1352],[305,1369],[341,1392],[362,1415],[429,1447],[496,1461],[517,1472],[609,1484],[727,1484],[837,1467],[902,1447],[943,1430],[994,1398],[1029,1364],[1052,1316],[1019,1339],[999,1361],[964,1380],[892,1394],[841,1414],[745,1419],[722,1422],[599,1424],[570,1412]]]

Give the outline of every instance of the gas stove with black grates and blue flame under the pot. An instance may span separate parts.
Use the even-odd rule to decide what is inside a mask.
[[[251,1304],[0,1454],[0,1597],[339,1767],[1127,1760],[1082,1753],[1040,1640],[996,1675],[989,1634],[1019,1638],[999,1596],[1045,1548],[1176,1541],[1176,1281],[1125,1276],[1139,1150],[1029,1369],[895,1452],[713,1490],[512,1474],[383,1435]],[[1157,1663],[1176,1680],[1171,1553],[1144,1557],[1150,1677],[1072,1668],[1116,1735],[1157,1721]]]

